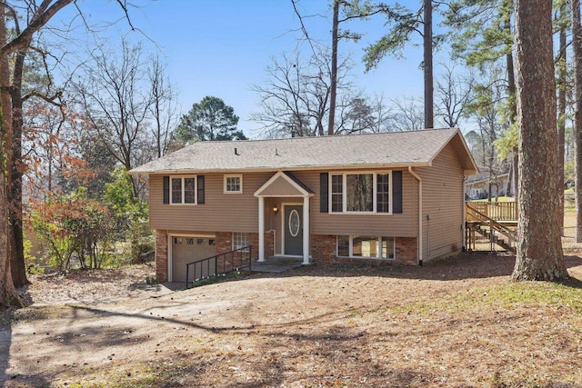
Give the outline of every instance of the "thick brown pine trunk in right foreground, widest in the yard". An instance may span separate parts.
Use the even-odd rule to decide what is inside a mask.
[[[578,0],[573,0],[578,1]],[[557,192],[552,0],[516,0],[519,221],[513,281],[559,280],[564,265]]]

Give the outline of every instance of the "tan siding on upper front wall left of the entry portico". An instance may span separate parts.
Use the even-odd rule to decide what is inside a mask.
[[[204,174],[205,204],[164,204],[162,174],[152,174],[150,227],[174,231],[258,232],[258,200],[253,195],[271,173],[244,174],[243,194],[224,194],[224,174]]]

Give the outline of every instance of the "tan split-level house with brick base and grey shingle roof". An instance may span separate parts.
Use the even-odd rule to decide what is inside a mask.
[[[464,244],[464,179],[477,166],[458,129],[200,142],[139,166],[149,177],[156,274],[250,244],[312,262],[422,264]]]

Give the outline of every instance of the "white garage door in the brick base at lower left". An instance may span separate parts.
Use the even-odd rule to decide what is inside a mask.
[[[216,237],[215,236],[170,236],[170,249],[172,260],[170,261],[172,278],[171,282],[186,282],[186,264],[196,262],[196,260],[206,259],[216,255]],[[214,271],[214,263],[210,268],[204,265],[204,268],[196,268],[198,276],[201,271],[206,274],[208,270]],[[194,268],[190,268],[190,279],[193,277]],[[204,275],[206,275],[204,274]]]

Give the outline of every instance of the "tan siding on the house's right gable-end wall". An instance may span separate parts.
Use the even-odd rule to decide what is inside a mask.
[[[457,254],[463,246],[463,169],[451,144],[432,167],[416,170],[423,183],[423,258]],[[427,220],[430,215],[430,220]]]

